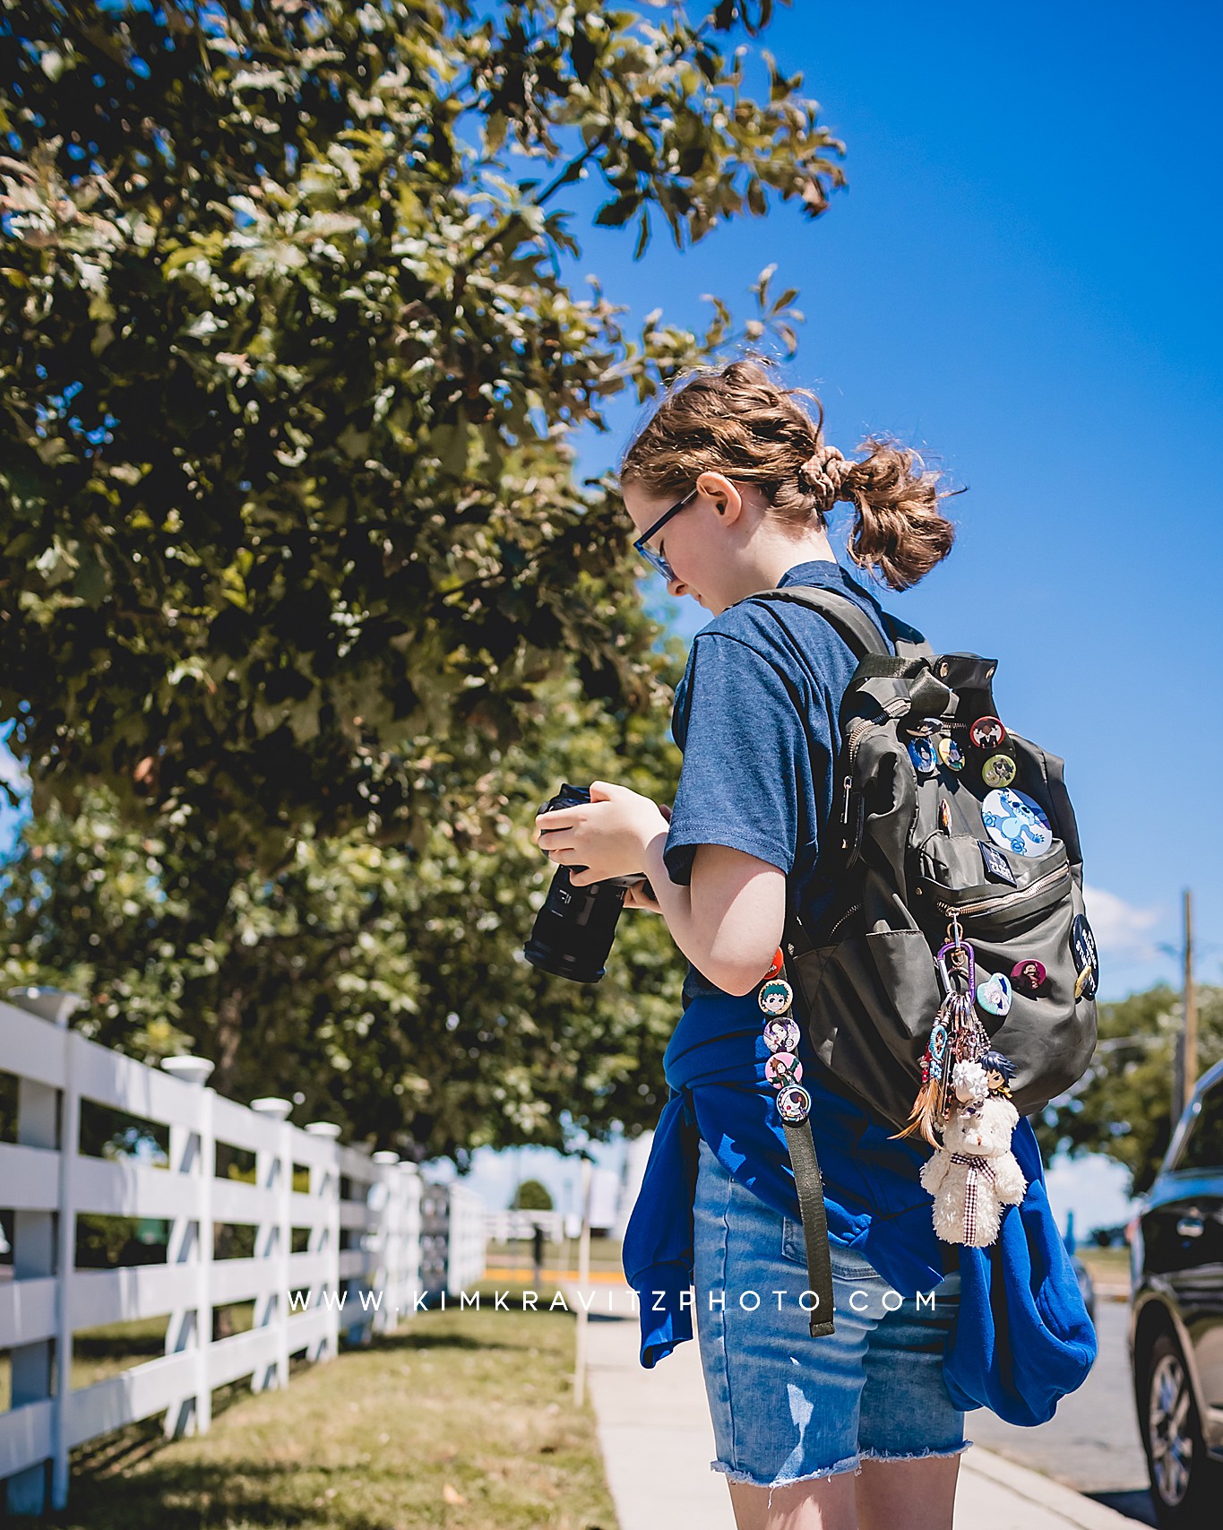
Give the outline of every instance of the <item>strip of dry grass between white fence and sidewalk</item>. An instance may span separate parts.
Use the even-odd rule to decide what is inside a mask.
[[[546,1307],[550,1293],[541,1293]],[[73,1452],[72,1530],[616,1530],[563,1311],[419,1313],[214,1398],[206,1435],[156,1421]]]

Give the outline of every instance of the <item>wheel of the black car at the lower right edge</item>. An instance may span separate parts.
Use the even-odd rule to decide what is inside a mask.
[[[1142,1369],[1139,1426],[1160,1530],[1215,1530],[1223,1467],[1206,1455],[1185,1356],[1156,1334]]]

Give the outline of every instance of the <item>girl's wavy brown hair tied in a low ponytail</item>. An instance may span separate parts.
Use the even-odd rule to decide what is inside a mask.
[[[671,384],[624,453],[621,487],[656,499],[680,496],[697,474],[758,483],[769,514],[792,526],[826,525],[836,500],[856,514],[848,554],[891,589],[908,589],[948,555],[955,528],[939,511],[949,491],[908,447],[881,436],[847,461],[824,441],[824,407],[807,389],[781,387],[766,356],[731,361]],[[816,418],[796,399],[810,398]]]

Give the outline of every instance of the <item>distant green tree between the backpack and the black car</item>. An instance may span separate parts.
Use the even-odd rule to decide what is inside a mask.
[[[1199,1076],[1223,1057],[1223,988],[1199,988]],[[1035,1121],[1047,1155],[1102,1152],[1150,1189],[1173,1137],[1180,996],[1166,984],[1099,1007],[1099,1043],[1082,1080]]]

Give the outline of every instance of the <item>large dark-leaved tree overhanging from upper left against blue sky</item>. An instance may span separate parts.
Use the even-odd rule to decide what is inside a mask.
[[[801,75],[755,103],[720,46],[770,9],[5,0],[0,708],[35,808],[104,782],[238,868],[303,825],[419,845],[405,741],[509,742],[566,669],[656,699],[569,438],[729,314],[628,340],[549,203],[601,176],[637,251],[651,210],[683,245],[766,185],[818,214]]]

